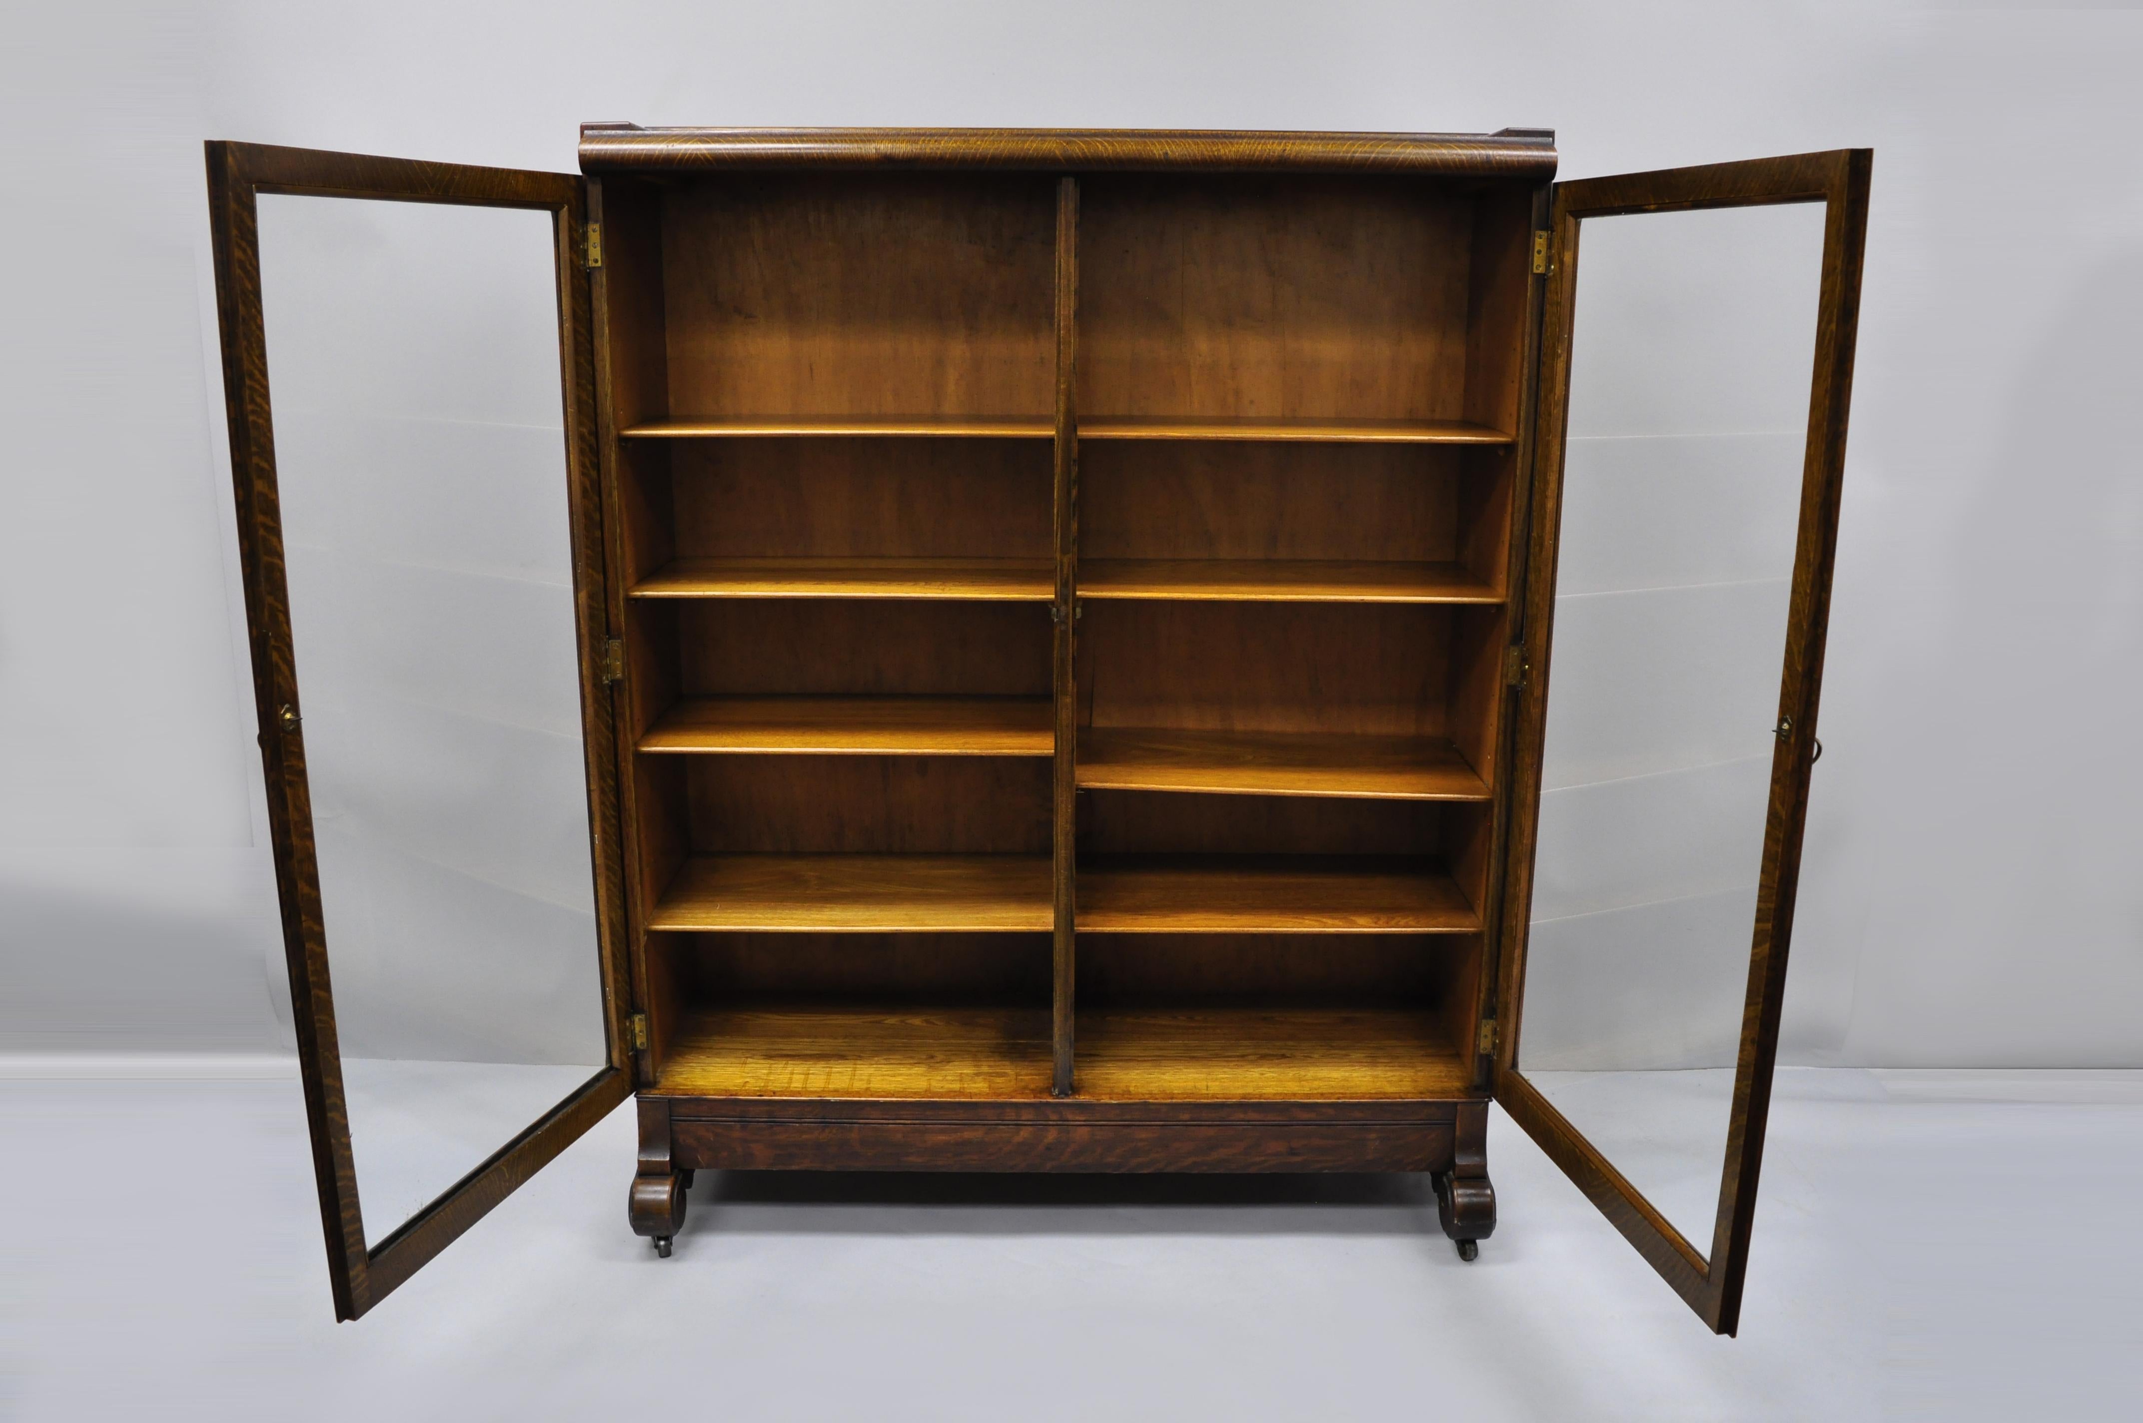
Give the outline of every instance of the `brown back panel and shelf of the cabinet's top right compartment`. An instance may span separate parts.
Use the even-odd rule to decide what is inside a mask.
[[[1432,184],[1089,180],[1082,433],[1502,439],[1453,424],[1470,236]]]

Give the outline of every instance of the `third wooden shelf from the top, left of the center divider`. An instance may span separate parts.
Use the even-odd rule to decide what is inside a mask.
[[[662,714],[645,752],[1050,757],[1048,696],[701,696]]]

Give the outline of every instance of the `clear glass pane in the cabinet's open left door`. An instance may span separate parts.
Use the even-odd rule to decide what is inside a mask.
[[[259,199],[366,1243],[604,1063],[546,212]]]

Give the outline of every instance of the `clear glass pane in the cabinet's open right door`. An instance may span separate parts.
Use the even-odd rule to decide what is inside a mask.
[[[1519,1065],[1695,1245],[1719,1211],[1824,206],[1579,229]]]

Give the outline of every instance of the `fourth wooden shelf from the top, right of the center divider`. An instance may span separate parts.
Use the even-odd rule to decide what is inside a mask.
[[[1472,934],[1442,866],[1339,857],[1125,857],[1078,872],[1082,934]]]

